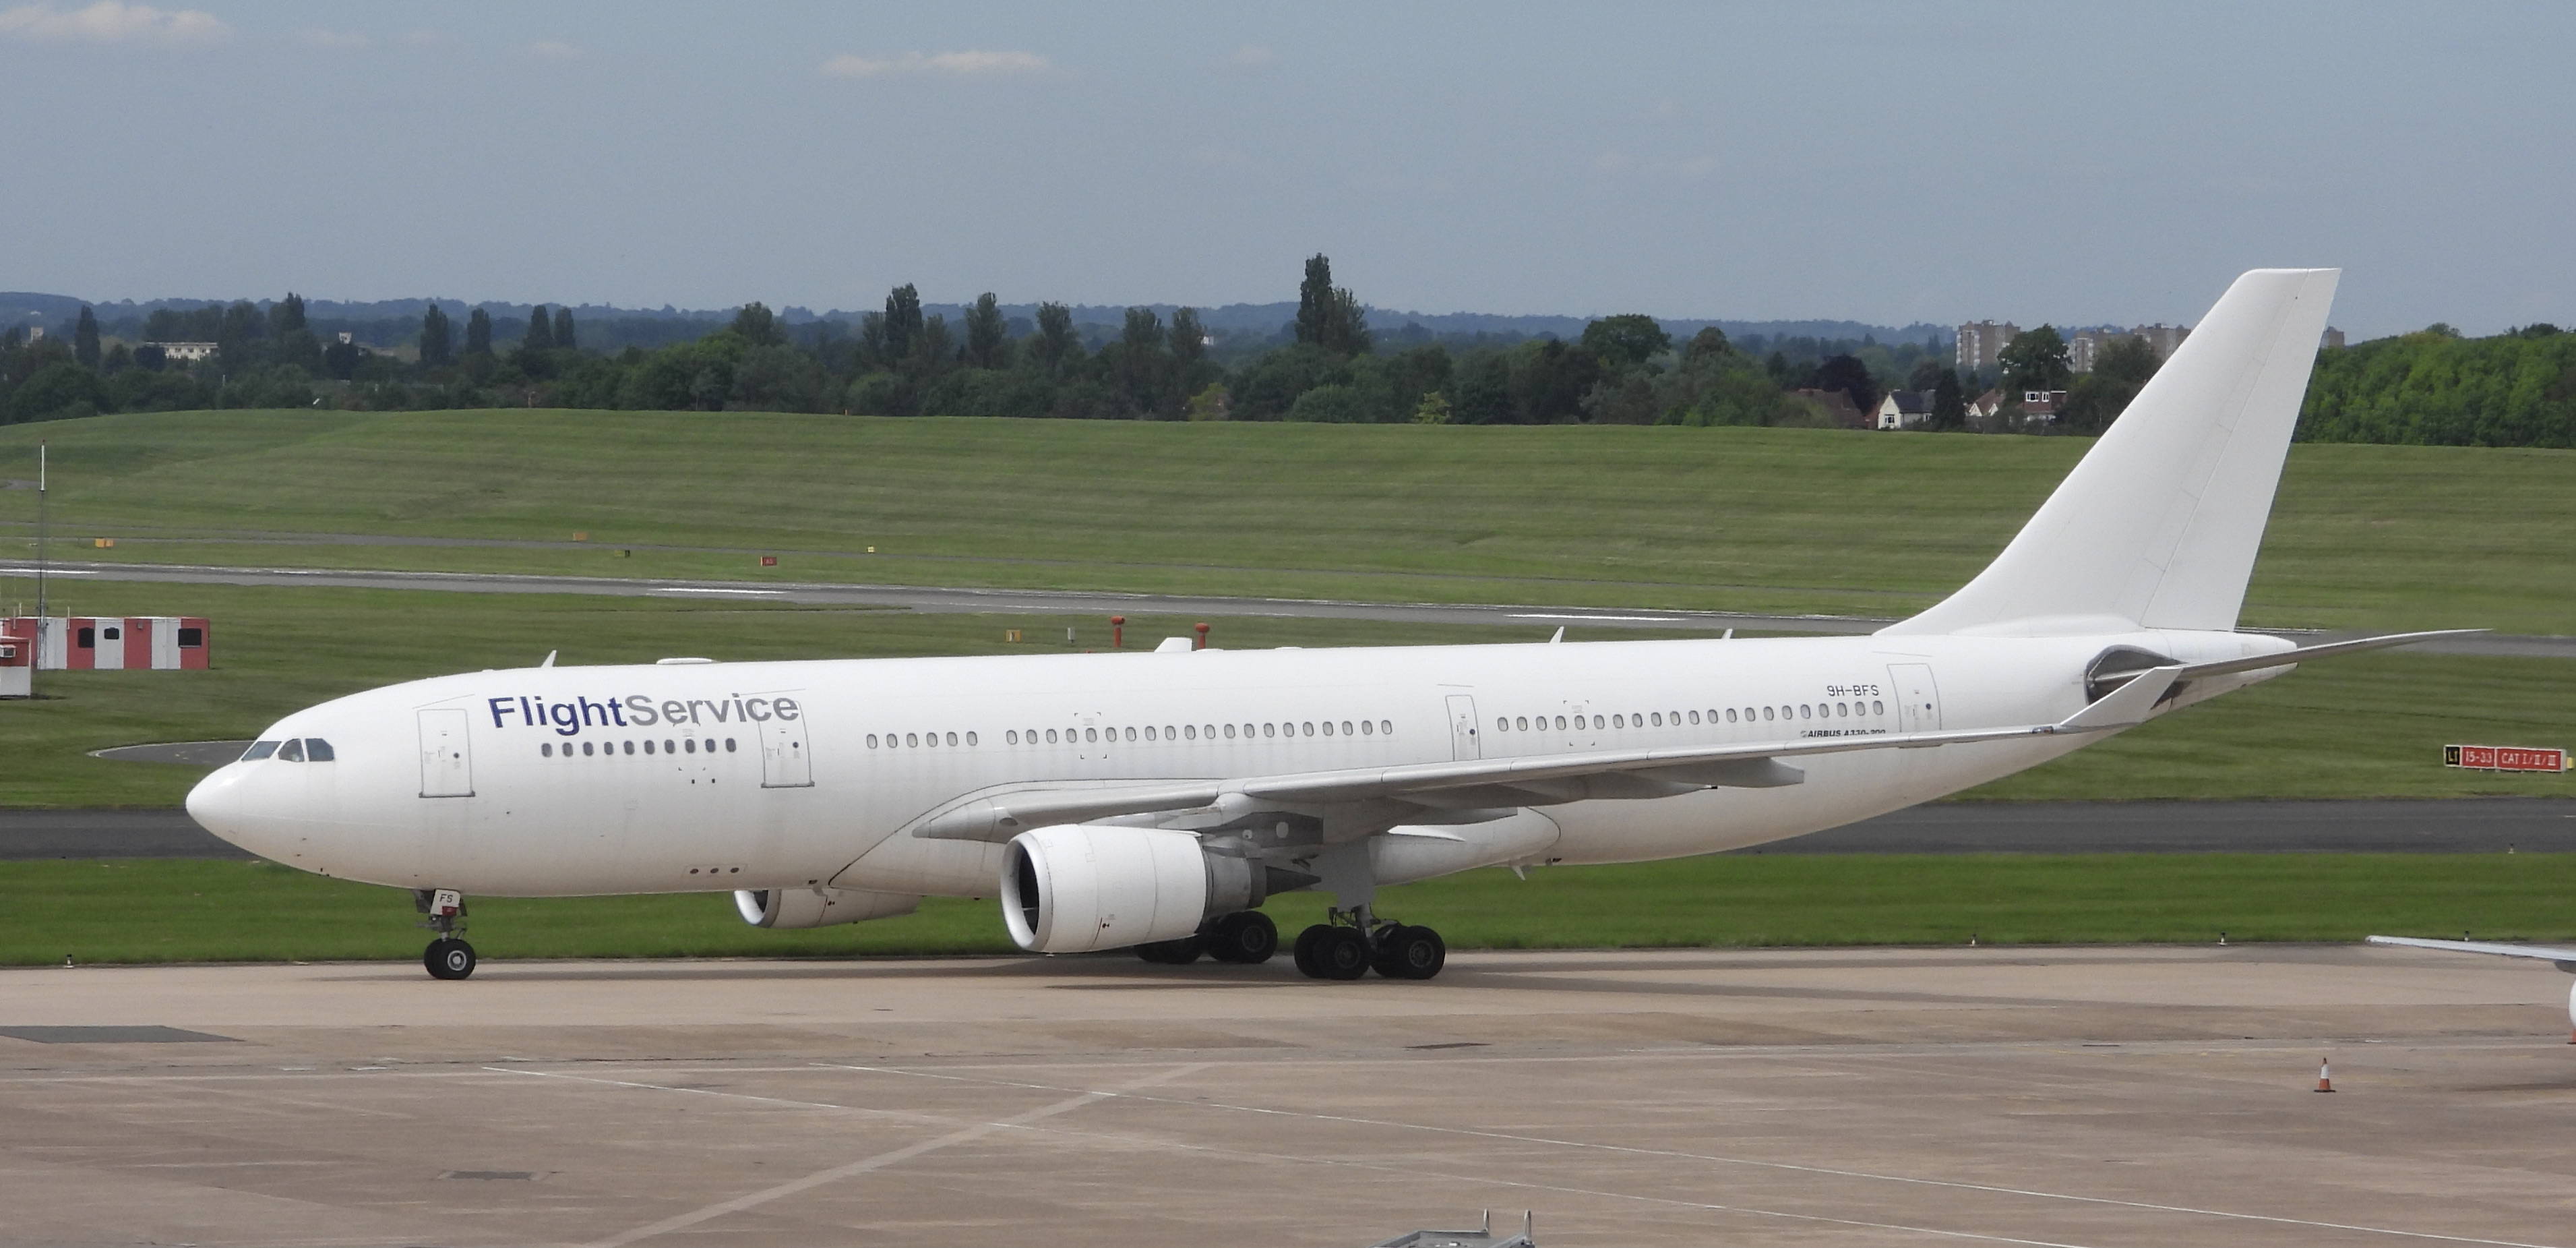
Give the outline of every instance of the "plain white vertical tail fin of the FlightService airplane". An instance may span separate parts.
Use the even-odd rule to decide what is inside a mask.
[[[1965,588],[1888,634],[2236,627],[2336,268],[2257,268]]]

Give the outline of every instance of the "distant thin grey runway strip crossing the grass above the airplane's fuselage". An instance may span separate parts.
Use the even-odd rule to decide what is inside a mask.
[[[0,575],[33,575],[31,562],[0,562]],[[1504,624],[1504,627],[1584,627],[1584,629],[1757,629],[1862,634],[1893,619],[1873,616],[1765,616],[1744,611],[1646,611],[1597,606],[1512,606],[1512,603],[1360,603],[1329,598],[1216,598],[1182,593],[1092,593],[1092,590],[958,590],[922,585],[837,585],[773,580],[621,580],[495,572],[348,572],[301,567],[196,567],[196,565],[116,565],[57,562],[52,575],[93,580],[144,580],[173,585],[307,585],[363,590],[443,590],[443,593],[595,593],[618,598],[703,598],[773,601],[804,606],[863,606],[925,614],[1128,614],[1128,616],[1275,616],[1275,619],[1378,619],[1399,624]],[[2360,637],[2280,629],[2303,645]],[[2450,637],[2411,647],[2427,655],[2519,655],[2576,658],[2576,637]]]

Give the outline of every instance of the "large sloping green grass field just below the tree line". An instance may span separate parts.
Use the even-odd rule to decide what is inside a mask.
[[[1770,428],[160,413],[0,428],[0,477],[33,477],[36,438],[54,444],[62,557],[1860,616],[1909,614],[1968,580],[2089,446]],[[33,505],[31,490],[0,492],[0,534],[28,534]],[[2246,621],[2576,632],[2571,521],[2568,451],[2295,446]],[[757,552],[781,565],[760,570]]]

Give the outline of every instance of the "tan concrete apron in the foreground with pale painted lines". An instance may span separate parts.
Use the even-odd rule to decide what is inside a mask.
[[[2568,977],[2499,962],[8,970],[0,1240],[2568,1243]]]

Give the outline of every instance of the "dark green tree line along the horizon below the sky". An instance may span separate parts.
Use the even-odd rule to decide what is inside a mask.
[[[2460,340],[2406,335],[2326,351],[2300,436],[2347,441],[2568,444],[2563,335]],[[1494,340],[1378,330],[1306,260],[1296,315],[1278,335],[1216,340],[1190,307],[1131,307],[1121,325],[1077,325],[1066,304],[1005,315],[994,294],[951,325],[909,284],[855,322],[786,325],[744,304],[714,333],[592,351],[569,307],[526,320],[430,304],[407,351],[317,333],[304,299],[157,309],[147,343],[214,343],[204,361],[103,338],[85,307],[70,340],[0,340],[0,418],[52,420],[196,407],[595,407],[788,410],[850,415],[1002,415],[1074,420],[1301,423],[1618,423],[1834,425],[1891,389],[1919,392],[1932,431],[2099,433],[2156,371],[2136,338],[2074,374],[2056,327],[2014,338],[1996,369],[1953,369],[1942,343],[1757,338],[1716,327],[1674,340],[1654,317],[1615,315],[1577,338]],[[327,338],[327,340],[325,340]],[[2553,346],[2555,343],[2555,346]],[[2548,364],[2555,358],[2558,364]],[[2555,366],[2558,371],[2548,371]],[[2540,374],[2548,376],[2540,376]],[[2532,382],[2537,376],[2537,382]],[[1999,387],[2004,410],[1971,418]],[[1837,402],[1850,400],[1850,407]],[[2020,420],[2022,392],[2066,392],[2056,420]],[[2324,405],[2324,407],[2321,407]],[[2555,405],[2555,407],[2553,407]],[[1842,413],[1837,418],[1837,413]],[[2555,415],[2553,415],[2555,413]],[[2522,438],[2522,441],[2512,441]],[[2555,441],[2550,441],[2555,438]]]

